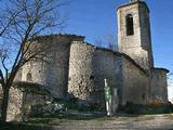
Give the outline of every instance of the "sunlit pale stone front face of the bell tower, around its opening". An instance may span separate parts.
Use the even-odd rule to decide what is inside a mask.
[[[119,50],[123,52],[124,49],[128,49],[130,47],[136,47],[138,48],[141,44],[141,35],[139,35],[139,16],[138,16],[138,9],[137,4],[124,6],[118,9],[117,15],[118,15],[118,46]],[[125,16],[128,14],[133,15],[133,23],[134,23],[134,34],[133,36],[127,37],[127,23],[125,23]],[[125,51],[125,50],[124,50]]]

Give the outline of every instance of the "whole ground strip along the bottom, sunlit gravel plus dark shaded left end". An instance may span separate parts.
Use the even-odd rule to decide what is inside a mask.
[[[0,123],[0,130],[173,130],[173,115],[118,116],[92,120],[57,119],[51,126],[10,122]]]

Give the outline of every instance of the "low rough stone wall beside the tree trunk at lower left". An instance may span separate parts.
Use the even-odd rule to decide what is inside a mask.
[[[2,90],[0,89],[0,99],[2,99]],[[26,115],[24,113],[40,113],[39,112],[30,112],[31,106],[35,105],[44,105],[46,102],[52,102],[52,96],[48,95],[39,95],[34,93],[24,93],[19,89],[11,88],[10,96],[9,96],[9,106],[8,106],[8,121],[12,120],[22,120],[22,116]],[[1,101],[1,100],[0,100]],[[0,108],[1,109],[1,108]]]

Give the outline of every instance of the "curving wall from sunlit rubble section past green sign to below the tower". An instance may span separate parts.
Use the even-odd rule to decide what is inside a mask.
[[[104,79],[107,78],[111,92],[118,89],[119,104],[145,104],[148,77],[132,61],[124,54],[75,42],[70,50],[68,91],[79,99],[103,103]]]

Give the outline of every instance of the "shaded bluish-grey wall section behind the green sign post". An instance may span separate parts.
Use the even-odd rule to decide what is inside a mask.
[[[93,74],[94,74],[94,86],[98,88],[99,91],[93,92],[93,100],[104,99],[104,79],[107,79],[107,83],[111,89],[112,102],[117,101],[115,96],[115,89],[118,90],[118,96],[120,98],[122,88],[122,62],[119,53],[111,52],[109,50],[96,49],[93,58]],[[101,99],[101,103],[104,100]],[[119,104],[119,100],[117,103]]]

